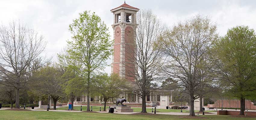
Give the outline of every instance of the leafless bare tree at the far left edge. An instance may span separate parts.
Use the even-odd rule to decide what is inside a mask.
[[[20,21],[0,26],[0,72],[8,79],[0,84],[16,89],[16,108],[19,106],[20,89],[33,79],[29,79],[34,69],[34,61],[41,61],[40,54],[45,49],[43,36],[25,26]],[[3,77],[3,76],[1,76]]]

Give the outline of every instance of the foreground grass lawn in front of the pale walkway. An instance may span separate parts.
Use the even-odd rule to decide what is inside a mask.
[[[202,116],[202,115],[201,115]],[[255,120],[255,118],[233,118],[230,116],[205,115],[205,120]],[[121,115],[113,113],[76,113],[53,111],[0,110],[1,120],[188,120],[173,115]],[[198,119],[193,119],[198,120]]]

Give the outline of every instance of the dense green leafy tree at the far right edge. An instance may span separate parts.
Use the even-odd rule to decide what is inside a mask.
[[[229,29],[214,45],[217,73],[229,95],[240,99],[240,115],[244,115],[245,99],[255,96],[256,36],[248,26]]]

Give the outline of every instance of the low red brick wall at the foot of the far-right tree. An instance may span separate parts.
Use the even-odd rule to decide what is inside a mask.
[[[254,111],[244,111],[247,116],[255,116],[256,112]],[[217,115],[229,115],[229,116],[237,116],[240,114],[240,110],[233,111],[233,110],[218,110]]]

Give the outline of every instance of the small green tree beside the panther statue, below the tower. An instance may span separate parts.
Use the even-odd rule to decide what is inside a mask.
[[[97,77],[97,91],[102,96],[104,101],[104,111],[106,111],[106,104],[109,98],[116,98],[122,93],[122,79],[118,74],[103,74]]]

